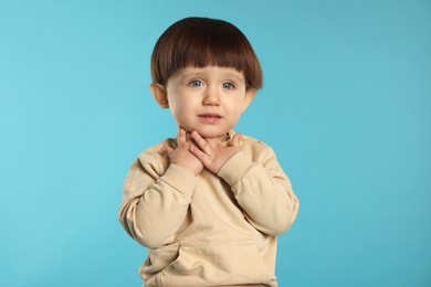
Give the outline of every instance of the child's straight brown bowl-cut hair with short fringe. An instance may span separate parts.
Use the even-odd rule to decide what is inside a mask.
[[[169,26],[151,55],[153,82],[166,85],[179,68],[217,65],[244,73],[246,88],[262,87],[262,70],[246,36],[233,24],[186,18]]]

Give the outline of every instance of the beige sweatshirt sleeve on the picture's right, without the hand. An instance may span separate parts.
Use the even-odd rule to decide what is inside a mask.
[[[256,230],[277,235],[292,226],[299,202],[270,147],[262,145],[253,161],[245,152],[238,152],[223,164],[219,177],[231,185],[248,221]]]

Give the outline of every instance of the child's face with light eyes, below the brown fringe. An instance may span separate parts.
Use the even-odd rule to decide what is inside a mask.
[[[166,86],[166,99],[178,125],[204,138],[224,138],[254,94],[254,89],[245,89],[242,72],[219,66],[181,68]]]

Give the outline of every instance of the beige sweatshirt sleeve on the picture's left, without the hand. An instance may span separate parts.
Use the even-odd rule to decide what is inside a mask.
[[[166,170],[149,155],[132,164],[118,212],[125,231],[139,244],[157,248],[172,243],[196,184],[195,174],[176,164]]]

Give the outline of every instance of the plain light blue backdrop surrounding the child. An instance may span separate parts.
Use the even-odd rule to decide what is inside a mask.
[[[117,222],[138,152],[176,135],[151,49],[231,21],[264,88],[238,131],[270,144],[302,206],[284,286],[431,286],[431,1],[0,1],[0,286],[140,286]]]

